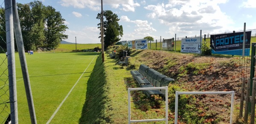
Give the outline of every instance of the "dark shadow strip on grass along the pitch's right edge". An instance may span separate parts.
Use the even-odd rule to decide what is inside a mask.
[[[87,82],[85,103],[81,112],[79,124],[106,124],[111,123],[111,109],[108,105],[108,86],[106,86],[106,75],[102,57],[97,58],[93,72]]]

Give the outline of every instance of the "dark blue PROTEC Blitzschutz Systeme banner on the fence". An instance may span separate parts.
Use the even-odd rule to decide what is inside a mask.
[[[245,32],[244,55],[250,55],[251,31]],[[212,54],[242,55],[244,32],[211,35]]]

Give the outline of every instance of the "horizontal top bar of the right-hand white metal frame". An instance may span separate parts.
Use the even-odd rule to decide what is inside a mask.
[[[176,94],[234,94],[235,91],[208,91],[208,92],[179,92],[176,91]]]

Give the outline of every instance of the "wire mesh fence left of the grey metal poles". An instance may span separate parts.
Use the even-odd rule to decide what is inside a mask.
[[[0,33],[6,36],[4,15],[4,0],[0,0]],[[0,36],[0,123],[5,123],[10,114],[8,61],[6,55],[6,37]]]

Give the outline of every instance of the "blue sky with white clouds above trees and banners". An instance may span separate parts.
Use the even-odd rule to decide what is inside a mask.
[[[2,3],[4,0],[0,0]],[[29,3],[34,0],[16,0]],[[101,43],[96,19],[101,0],[38,0],[61,13],[71,43]],[[117,14],[123,27],[121,40],[151,36],[172,37],[217,34],[256,29],[254,0],[102,0],[103,10]]]

